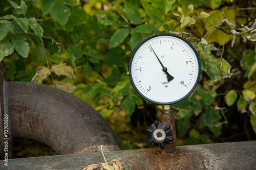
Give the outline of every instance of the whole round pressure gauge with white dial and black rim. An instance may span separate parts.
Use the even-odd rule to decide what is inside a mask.
[[[197,51],[186,39],[168,33],[145,38],[134,49],[129,76],[145,100],[170,105],[196,88],[201,73]]]

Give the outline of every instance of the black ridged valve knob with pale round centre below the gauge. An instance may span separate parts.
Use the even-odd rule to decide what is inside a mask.
[[[155,121],[149,128],[146,129],[148,143],[154,144],[161,149],[165,148],[166,144],[174,141],[172,131],[169,125]]]

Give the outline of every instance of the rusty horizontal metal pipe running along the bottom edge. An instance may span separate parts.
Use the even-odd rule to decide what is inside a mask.
[[[256,141],[187,145],[172,153],[160,148],[104,152],[127,169],[256,169]],[[8,169],[83,169],[103,163],[100,152],[10,159]],[[0,169],[4,167],[0,164]]]

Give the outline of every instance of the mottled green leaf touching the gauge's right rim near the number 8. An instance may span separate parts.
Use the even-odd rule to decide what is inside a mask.
[[[200,56],[202,70],[206,72],[206,74],[213,81],[217,81],[221,79],[221,71],[220,71],[220,62],[218,59],[212,56]]]

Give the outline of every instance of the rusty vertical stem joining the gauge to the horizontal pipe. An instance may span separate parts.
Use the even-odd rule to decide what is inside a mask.
[[[164,109],[161,113],[162,115],[162,123],[166,125],[170,125],[170,130],[172,131],[174,141],[170,142],[166,145],[164,148],[165,152],[170,153],[173,152],[175,149],[175,142],[177,141],[176,138],[176,126],[175,126],[175,115],[172,108],[170,108],[170,105],[165,105]]]

